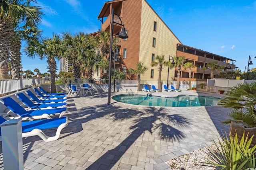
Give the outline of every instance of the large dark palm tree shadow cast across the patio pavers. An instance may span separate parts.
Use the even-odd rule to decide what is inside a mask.
[[[113,120],[128,119],[136,116],[135,120],[133,121],[133,125],[130,127],[130,130],[133,131],[117,147],[108,150],[104,155],[98,158],[98,160],[91,164],[87,168],[88,170],[100,169],[101,166],[107,166],[108,169],[111,169],[126,152],[126,150],[131,147],[136,139],[138,139],[138,137],[140,137],[146,131],[149,131],[150,134],[157,133],[161,139],[179,141],[180,139],[184,138],[184,134],[178,129],[172,127],[172,125],[178,127],[187,127],[188,124],[190,124],[188,119],[185,117],[166,113],[164,107],[160,107],[159,109],[150,107],[144,111],[136,110],[134,111],[136,114],[130,114],[131,112],[131,109],[126,109],[126,116],[123,116],[123,114],[120,115],[118,112],[111,114]],[[109,159],[109,156],[112,156],[111,160]]]

